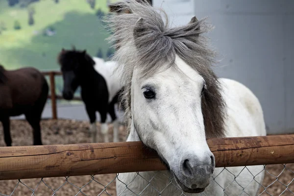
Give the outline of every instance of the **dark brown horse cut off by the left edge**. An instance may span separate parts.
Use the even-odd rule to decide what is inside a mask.
[[[46,78],[35,68],[8,71],[0,65],[0,122],[6,146],[11,146],[11,116],[25,114],[33,128],[34,145],[42,145],[40,121],[49,92]]]

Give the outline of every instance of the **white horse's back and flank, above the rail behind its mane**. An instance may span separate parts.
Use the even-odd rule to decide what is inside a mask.
[[[245,85],[221,78],[226,102],[226,137],[265,136],[263,110],[258,98]]]

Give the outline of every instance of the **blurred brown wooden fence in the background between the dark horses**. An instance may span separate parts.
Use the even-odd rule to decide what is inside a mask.
[[[55,93],[55,75],[62,75],[61,72],[57,71],[49,71],[49,72],[42,72],[44,75],[49,75],[50,81],[50,95],[48,98],[51,99],[51,110],[52,110],[52,119],[57,119],[57,106],[56,106],[56,99],[63,99],[61,95],[56,95]],[[79,97],[74,97],[73,100],[82,100]]]

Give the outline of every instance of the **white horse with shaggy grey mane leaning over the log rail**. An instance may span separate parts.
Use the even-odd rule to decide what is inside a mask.
[[[126,84],[127,141],[156,150],[168,171],[119,173],[117,195],[255,196],[264,166],[215,168],[206,143],[211,137],[265,136],[266,129],[253,93],[212,71],[215,52],[202,35],[204,20],[169,27],[146,1],[119,6],[120,14],[108,22],[111,40],[119,40],[114,59]]]

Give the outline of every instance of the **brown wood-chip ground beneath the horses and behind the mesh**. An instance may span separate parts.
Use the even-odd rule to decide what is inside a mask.
[[[42,142],[44,145],[52,144],[81,144],[90,143],[88,138],[88,122],[74,120],[43,120]],[[112,141],[112,130],[109,131]],[[11,136],[13,146],[32,145],[32,131],[26,121],[11,121]],[[125,131],[120,131],[120,141],[125,141]],[[102,137],[101,137],[102,138]],[[102,140],[100,139],[100,141]],[[0,147],[5,146],[3,140],[2,126],[0,125]],[[278,176],[278,177],[276,177]],[[69,178],[55,177],[38,179],[24,179],[0,181],[0,196],[51,196],[54,191],[56,196],[116,196],[115,191],[116,174],[95,175],[95,176],[72,176]],[[114,181],[113,181],[114,180]],[[261,188],[261,196],[294,196],[294,164],[286,166],[266,166],[263,185],[268,187],[266,192]],[[291,183],[292,182],[292,183]],[[284,185],[288,185],[288,189]],[[106,188],[105,188],[106,186]],[[34,190],[34,191],[33,191]],[[285,191],[286,190],[286,191]],[[290,191],[289,191],[290,190]],[[284,192],[285,191],[285,192]],[[292,193],[291,193],[292,192]]]

